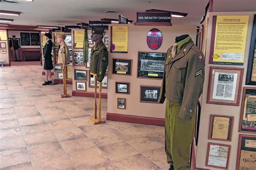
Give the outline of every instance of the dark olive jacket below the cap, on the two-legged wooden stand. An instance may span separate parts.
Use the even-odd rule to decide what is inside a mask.
[[[104,79],[107,65],[109,64],[109,52],[103,41],[92,47],[90,73],[97,75],[97,81],[102,82]]]

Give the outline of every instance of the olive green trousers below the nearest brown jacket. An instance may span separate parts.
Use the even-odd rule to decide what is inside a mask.
[[[190,151],[193,140],[196,111],[190,121],[178,117],[181,103],[166,100],[165,153],[174,169],[190,169]]]

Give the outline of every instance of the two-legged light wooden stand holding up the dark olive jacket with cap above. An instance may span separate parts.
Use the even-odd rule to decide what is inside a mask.
[[[92,74],[92,73],[91,73]],[[102,119],[102,109],[101,109],[101,104],[102,104],[102,98],[101,98],[101,94],[102,94],[102,82],[99,82],[99,116],[97,119],[97,103],[96,103],[96,98],[97,98],[97,75],[96,74],[92,74],[94,75],[94,86],[95,86],[95,93],[94,93],[94,97],[95,97],[95,103],[94,103],[94,118],[91,118],[90,121],[93,124],[101,124],[101,123],[106,123],[106,121],[104,121],[104,119]]]

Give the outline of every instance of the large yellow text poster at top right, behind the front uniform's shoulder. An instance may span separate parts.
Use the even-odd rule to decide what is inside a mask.
[[[243,65],[249,16],[217,16],[213,63]]]

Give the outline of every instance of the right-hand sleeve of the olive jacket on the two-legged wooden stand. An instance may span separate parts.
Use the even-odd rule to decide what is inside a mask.
[[[108,64],[109,64],[109,52],[107,52],[106,48],[103,48],[99,53],[98,73],[97,73],[98,82],[102,82],[102,80],[104,79]]]

